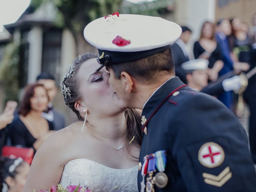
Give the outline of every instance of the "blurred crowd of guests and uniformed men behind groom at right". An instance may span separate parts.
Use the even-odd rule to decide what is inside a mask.
[[[176,76],[194,90],[216,96],[238,116],[247,104],[250,150],[256,163],[256,14],[252,27],[240,18],[204,22],[193,50],[188,46],[191,34],[182,26],[182,35],[172,45]]]

